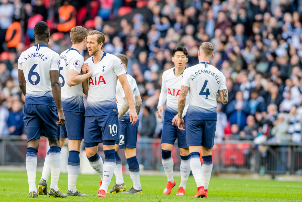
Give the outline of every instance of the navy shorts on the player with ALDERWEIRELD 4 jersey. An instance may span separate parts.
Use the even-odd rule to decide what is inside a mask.
[[[186,135],[188,146],[203,146],[211,149],[214,146],[214,137],[217,121],[186,121]]]

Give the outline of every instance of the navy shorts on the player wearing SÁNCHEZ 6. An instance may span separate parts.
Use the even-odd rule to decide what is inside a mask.
[[[45,104],[27,104],[24,106],[24,124],[27,133],[27,141],[39,139],[41,135],[51,140],[59,140],[61,126],[58,108]]]

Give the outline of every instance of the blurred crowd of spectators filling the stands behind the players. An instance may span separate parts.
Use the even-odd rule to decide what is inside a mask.
[[[229,92],[228,104],[217,106],[215,142],[301,142],[302,1],[2,0],[0,136],[25,133],[18,57],[34,45],[40,20],[51,29],[48,47],[59,54],[72,45],[68,31],[84,26],[105,34],[105,52],[127,55],[143,99],[142,137],[160,137],[157,103],[162,72],[173,68],[172,49],[187,48],[190,67],[199,45],[210,41],[210,63],[225,75]]]

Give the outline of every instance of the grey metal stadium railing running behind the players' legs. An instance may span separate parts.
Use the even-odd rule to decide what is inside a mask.
[[[37,153],[38,166],[43,166],[48,150],[46,138],[40,138]],[[0,165],[25,166],[26,140],[20,136],[0,137]],[[84,149],[84,147],[82,147]],[[124,150],[118,153],[127,169]],[[104,159],[102,144],[99,154]],[[179,170],[181,158],[175,142],[172,149],[174,170]],[[302,174],[302,144],[297,143],[263,143],[256,145],[253,141],[224,141],[213,147],[214,173],[259,173],[259,174]],[[200,157],[201,162],[202,158]],[[160,139],[138,138],[137,160],[145,170],[164,171],[161,162]]]

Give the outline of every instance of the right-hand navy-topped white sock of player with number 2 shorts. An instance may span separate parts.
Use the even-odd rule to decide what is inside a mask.
[[[129,174],[133,182],[133,188],[136,190],[141,190],[140,185],[140,165],[138,164],[136,156],[127,158],[127,163],[129,166]]]

